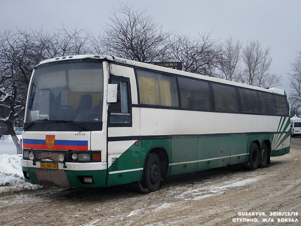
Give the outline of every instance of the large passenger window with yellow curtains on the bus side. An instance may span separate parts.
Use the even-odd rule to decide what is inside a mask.
[[[137,70],[140,104],[178,107],[175,77]]]

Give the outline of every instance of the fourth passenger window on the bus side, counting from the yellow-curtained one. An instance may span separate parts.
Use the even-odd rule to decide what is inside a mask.
[[[260,113],[260,105],[257,91],[249,89],[238,89],[240,95],[241,111]]]

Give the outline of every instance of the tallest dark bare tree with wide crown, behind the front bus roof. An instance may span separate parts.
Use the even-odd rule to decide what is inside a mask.
[[[92,38],[93,49],[100,54],[141,62],[161,59],[170,34],[145,14],[146,10],[133,10],[132,6],[120,3],[120,9],[114,8],[109,16],[110,23],[103,28],[103,36]]]

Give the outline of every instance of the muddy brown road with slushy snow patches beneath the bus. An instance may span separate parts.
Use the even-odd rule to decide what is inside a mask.
[[[273,157],[267,168],[231,166],[169,177],[149,194],[136,184],[1,187],[0,225],[301,225],[301,139],[291,141],[290,153]]]

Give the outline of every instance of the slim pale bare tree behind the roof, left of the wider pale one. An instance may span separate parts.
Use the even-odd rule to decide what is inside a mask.
[[[240,50],[242,43],[240,41],[234,42],[230,37],[222,44],[223,54],[220,61],[218,77],[221,79],[237,82],[241,77],[240,65]]]

